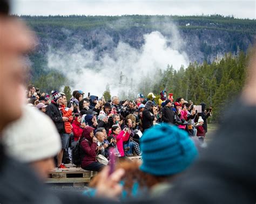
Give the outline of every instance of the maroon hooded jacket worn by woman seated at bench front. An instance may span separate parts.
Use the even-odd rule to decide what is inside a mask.
[[[82,133],[82,139],[80,142],[80,149],[84,152],[84,158],[82,159],[82,168],[86,168],[86,166],[96,162],[96,151],[97,151],[97,143],[92,142],[92,137],[90,136],[90,132],[95,130],[94,128],[87,126],[84,128]]]

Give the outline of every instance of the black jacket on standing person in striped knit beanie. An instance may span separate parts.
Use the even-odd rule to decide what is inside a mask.
[[[51,103],[46,107],[46,114],[50,116],[55,123],[56,128],[60,134],[65,133],[64,122],[62,119],[62,112],[59,110],[58,104]]]

